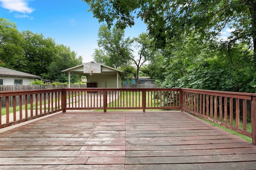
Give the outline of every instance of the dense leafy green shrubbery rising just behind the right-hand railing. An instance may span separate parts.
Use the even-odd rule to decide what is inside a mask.
[[[158,82],[162,87],[256,92],[254,64],[250,62],[252,51],[244,44],[234,44],[229,50],[222,46],[218,51],[210,53],[201,51],[195,55],[200,60],[176,55],[168,58],[165,80]],[[189,56],[189,51],[182,55]]]

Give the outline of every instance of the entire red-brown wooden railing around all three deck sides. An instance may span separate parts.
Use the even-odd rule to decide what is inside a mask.
[[[4,106],[1,101],[5,101]],[[0,92],[0,113],[3,115],[0,128],[58,111],[79,109],[102,109],[104,112],[180,109],[252,137],[252,143],[256,144],[256,94],[186,88],[60,88]]]

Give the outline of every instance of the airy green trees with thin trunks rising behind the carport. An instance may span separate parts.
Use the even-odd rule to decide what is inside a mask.
[[[156,59],[155,51],[151,47],[151,39],[146,33],[141,33],[133,39],[124,39],[124,30],[115,27],[111,30],[106,25],[101,25],[98,38],[100,49],[95,49],[94,61],[124,69],[126,80],[134,76],[138,83],[142,65],[149,60]]]

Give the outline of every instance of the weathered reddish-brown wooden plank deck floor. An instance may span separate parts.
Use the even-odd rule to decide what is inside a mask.
[[[180,111],[58,113],[0,133],[0,169],[256,169],[256,145]]]

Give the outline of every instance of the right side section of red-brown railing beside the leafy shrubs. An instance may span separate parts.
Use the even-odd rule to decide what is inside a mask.
[[[181,95],[182,110],[252,137],[256,144],[256,94],[182,88]]]

